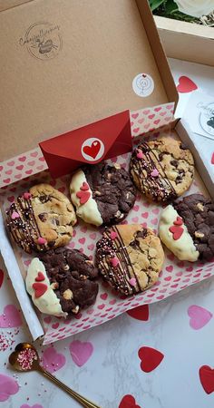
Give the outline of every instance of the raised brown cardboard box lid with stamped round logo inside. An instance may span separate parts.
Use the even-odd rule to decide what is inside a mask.
[[[178,101],[147,1],[0,0],[0,11],[0,161],[115,113]],[[133,91],[139,73],[153,80],[147,97]]]

